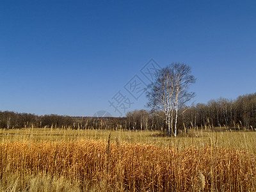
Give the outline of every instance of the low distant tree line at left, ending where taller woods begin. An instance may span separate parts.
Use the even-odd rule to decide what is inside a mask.
[[[0,111],[0,129],[20,128],[63,128],[63,129],[129,129],[126,117],[92,117],[35,115]],[[132,127],[131,127],[132,129]]]

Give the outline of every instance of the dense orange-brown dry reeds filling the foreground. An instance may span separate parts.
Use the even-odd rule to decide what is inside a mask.
[[[81,191],[196,191],[198,184],[201,191],[256,191],[255,157],[247,151],[208,146],[7,142],[0,144],[0,184],[6,186],[5,178],[15,174],[21,180],[19,191],[38,186],[26,182],[29,175],[43,175],[49,178],[47,183],[59,181],[74,189],[79,185]]]

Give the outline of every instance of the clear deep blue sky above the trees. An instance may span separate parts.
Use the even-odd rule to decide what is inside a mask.
[[[150,59],[190,65],[196,103],[256,92],[256,1],[0,3],[1,111],[125,115]]]

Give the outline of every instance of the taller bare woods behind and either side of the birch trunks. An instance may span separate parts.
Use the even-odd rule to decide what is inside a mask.
[[[129,129],[165,130],[168,122],[163,111],[134,110],[127,113]],[[207,104],[183,106],[179,110],[177,132],[196,127],[226,127],[227,129],[256,129],[256,93],[237,99],[212,99]]]

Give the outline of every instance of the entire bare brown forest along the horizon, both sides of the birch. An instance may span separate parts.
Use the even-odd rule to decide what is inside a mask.
[[[256,93],[239,96],[236,100],[217,99],[207,104],[186,106],[179,110],[178,127],[256,128]],[[136,129],[166,130],[164,114],[145,109],[130,111],[120,117],[82,117],[15,113],[0,111],[0,128],[52,127],[63,129]]]

